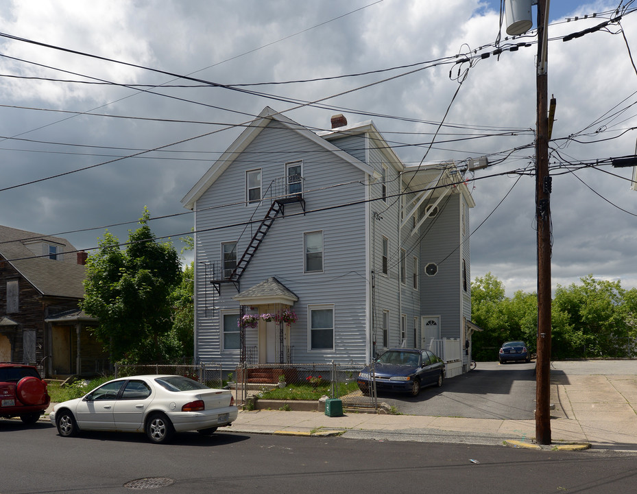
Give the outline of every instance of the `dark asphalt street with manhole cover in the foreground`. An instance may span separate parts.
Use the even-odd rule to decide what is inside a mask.
[[[85,433],[0,420],[2,494],[160,493],[492,494],[634,492],[634,456],[502,446],[399,443],[259,434],[178,434],[154,445],[143,434]],[[472,462],[475,460],[475,462]]]

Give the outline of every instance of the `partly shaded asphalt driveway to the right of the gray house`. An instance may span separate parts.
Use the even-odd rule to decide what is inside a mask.
[[[533,419],[535,367],[535,362],[479,362],[474,371],[446,379],[442,388],[424,388],[418,397],[379,393],[378,401],[409,415]]]

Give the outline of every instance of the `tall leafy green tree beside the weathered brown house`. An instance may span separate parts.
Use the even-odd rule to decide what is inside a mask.
[[[160,360],[174,346],[171,293],[180,281],[180,262],[169,242],[157,242],[144,208],[141,225],[129,231],[125,250],[108,231],[86,261],[82,309],[97,318],[97,339],[113,360]]]

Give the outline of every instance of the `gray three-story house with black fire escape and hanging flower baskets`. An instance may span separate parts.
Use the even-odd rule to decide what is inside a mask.
[[[266,107],[182,200],[195,358],[364,364],[470,339],[469,209],[453,164],[405,166],[372,121],[313,132]]]

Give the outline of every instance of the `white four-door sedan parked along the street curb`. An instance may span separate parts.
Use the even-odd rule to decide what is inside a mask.
[[[62,437],[82,430],[129,431],[165,443],[175,432],[213,434],[237,414],[229,390],[178,375],[140,375],[113,379],[82,398],[58,403],[49,417]]]

